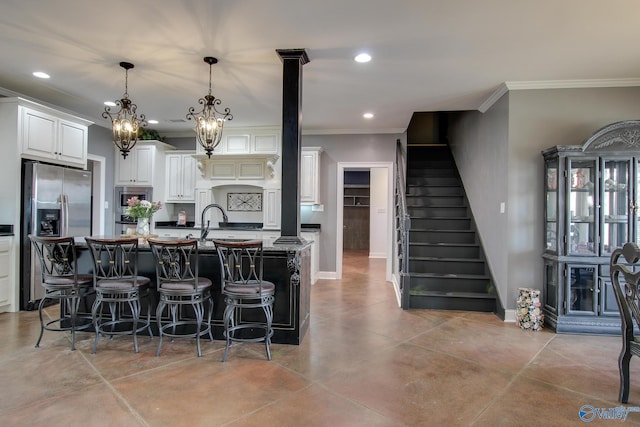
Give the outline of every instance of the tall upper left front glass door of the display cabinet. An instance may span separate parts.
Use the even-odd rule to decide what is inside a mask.
[[[567,229],[567,254],[594,255],[596,219],[594,190],[596,181],[595,160],[569,161],[569,228]]]

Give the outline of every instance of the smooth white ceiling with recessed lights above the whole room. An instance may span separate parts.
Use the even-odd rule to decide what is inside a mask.
[[[504,82],[635,85],[639,18],[637,0],[2,0],[0,93],[107,126],[129,61],[149,127],[184,133],[173,121],[198,107],[215,56],[227,126],[279,125],[275,50],[305,48],[304,132],[402,132],[414,111],[477,110]]]

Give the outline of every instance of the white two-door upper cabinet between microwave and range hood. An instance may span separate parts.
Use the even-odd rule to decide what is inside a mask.
[[[193,154],[193,151],[174,151],[167,154],[165,201],[196,201],[196,160]]]

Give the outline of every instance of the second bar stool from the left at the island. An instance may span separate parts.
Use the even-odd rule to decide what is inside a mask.
[[[133,349],[138,352],[138,332],[151,331],[151,279],[138,276],[138,238],[85,237],[93,260],[93,285],[96,300],[91,308],[96,339],[95,353],[100,335],[133,335]],[[147,318],[140,319],[141,300],[146,299]],[[103,320],[102,306],[107,303],[110,319]],[[125,308],[129,307],[130,313]]]

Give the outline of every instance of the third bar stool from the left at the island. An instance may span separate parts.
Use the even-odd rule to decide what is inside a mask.
[[[156,356],[160,355],[162,338],[188,337],[196,339],[198,357],[200,337],[211,333],[211,280],[198,275],[198,241],[196,239],[154,239],[147,240],[156,262],[157,289],[160,301],[156,309],[156,321],[160,342]],[[207,307],[205,307],[205,302]],[[193,317],[185,316],[184,309],[190,306]],[[162,321],[162,313],[168,310],[169,322]],[[206,314],[206,321],[204,321]],[[203,324],[204,321],[204,324]]]

